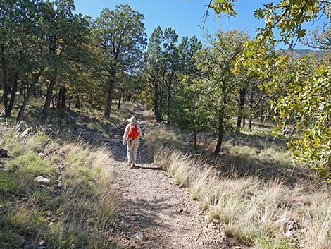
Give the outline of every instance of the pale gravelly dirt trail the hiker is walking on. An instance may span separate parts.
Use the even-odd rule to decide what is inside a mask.
[[[142,107],[135,110],[139,121],[143,111]],[[135,169],[126,165],[124,128],[115,131],[111,142],[115,188],[120,195],[120,225],[116,227],[120,242],[131,248],[241,248],[225,239],[220,224],[206,224],[205,213],[189,198],[187,189],[177,186],[157,166],[145,159],[138,159]]]

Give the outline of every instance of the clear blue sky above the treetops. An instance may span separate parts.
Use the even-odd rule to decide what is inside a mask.
[[[254,18],[254,10],[267,1],[242,0],[236,4],[236,18],[223,16],[215,20],[211,10],[204,29],[201,29],[198,25],[202,24],[208,2],[208,0],[75,0],[75,6],[77,12],[96,18],[103,8],[113,9],[118,4],[129,4],[133,9],[144,14],[148,36],[160,25],[163,29],[174,28],[180,39],[185,35],[196,34],[199,40],[203,40],[204,33],[214,34],[220,28],[246,30],[251,37],[254,37],[256,28],[263,26],[263,20]],[[298,44],[296,48],[305,47]]]

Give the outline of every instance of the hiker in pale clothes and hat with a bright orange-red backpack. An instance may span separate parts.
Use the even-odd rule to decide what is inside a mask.
[[[139,137],[142,136],[142,130],[140,129],[140,123],[135,116],[127,119],[129,122],[125,127],[123,135],[123,145],[127,146],[127,161],[130,167],[135,166],[137,159],[137,150],[139,147]]]

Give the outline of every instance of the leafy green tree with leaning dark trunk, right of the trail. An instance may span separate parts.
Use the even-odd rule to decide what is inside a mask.
[[[204,76],[199,82],[201,92],[200,104],[206,110],[210,129],[218,133],[218,143],[214,155],[220,152],[225,132],[230,129],[230,118],[234,109],[232,96],[242,83],[243,75],[235,74],[234,67],[237,58],[242,55],[244,32],[232,30],[219,31],[214,37],[209,37],[211,48],[206,48],[196,56],[196,66]]]

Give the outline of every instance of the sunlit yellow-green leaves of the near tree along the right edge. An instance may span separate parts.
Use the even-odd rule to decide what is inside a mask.
[[[296,159],[330,179],[330,66],[327,59],[304,57],[291,60],[275,56],[268,46],[247,42],[244,55],[237,63],[258,73],[270,95],[277,124],[277,134],[287,136]],[[292,122],[292,128],[286,128]],[[297,133],[295,134],[295,131]]]

